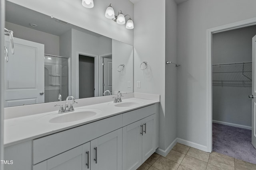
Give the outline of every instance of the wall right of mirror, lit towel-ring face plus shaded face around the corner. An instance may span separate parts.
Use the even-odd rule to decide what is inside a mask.
[[[157,7],[153,0],[134,2],[134,92],[161,95],[159,148],[166,152],[177,137],[177,68],[166,65],[166,60],[176,62],[177,57],[177,5],[174,0],[159,0]],[[146,70],[140,70],[143,61],[148,62]],[[141,81],[141,88],[137,88],[137,81]]]

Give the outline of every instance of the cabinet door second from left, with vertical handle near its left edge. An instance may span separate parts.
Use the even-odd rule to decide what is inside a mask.
[[[91,141],[91,170],[122,169],[122,129]]]

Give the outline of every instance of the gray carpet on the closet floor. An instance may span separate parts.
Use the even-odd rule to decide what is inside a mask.
[[[252,146],[252,131],[212,123],[212,150],[256,164],[256,149]]]

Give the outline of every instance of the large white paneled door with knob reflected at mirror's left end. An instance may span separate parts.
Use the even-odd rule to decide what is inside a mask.
[[[5,107],[44,102],[44,45],[14,38],[14,54],[5,36],[9,61],[5,62]],[[2,62],[2,61],[1,61]],[[40,94],[41,93],[41,94]]]

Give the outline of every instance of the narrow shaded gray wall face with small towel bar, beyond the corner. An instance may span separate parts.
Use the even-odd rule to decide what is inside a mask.
[[[165,0],[165,60],[177,63],[177,5]],[[165,65],[165,148],[177,137],[177,70]]]

